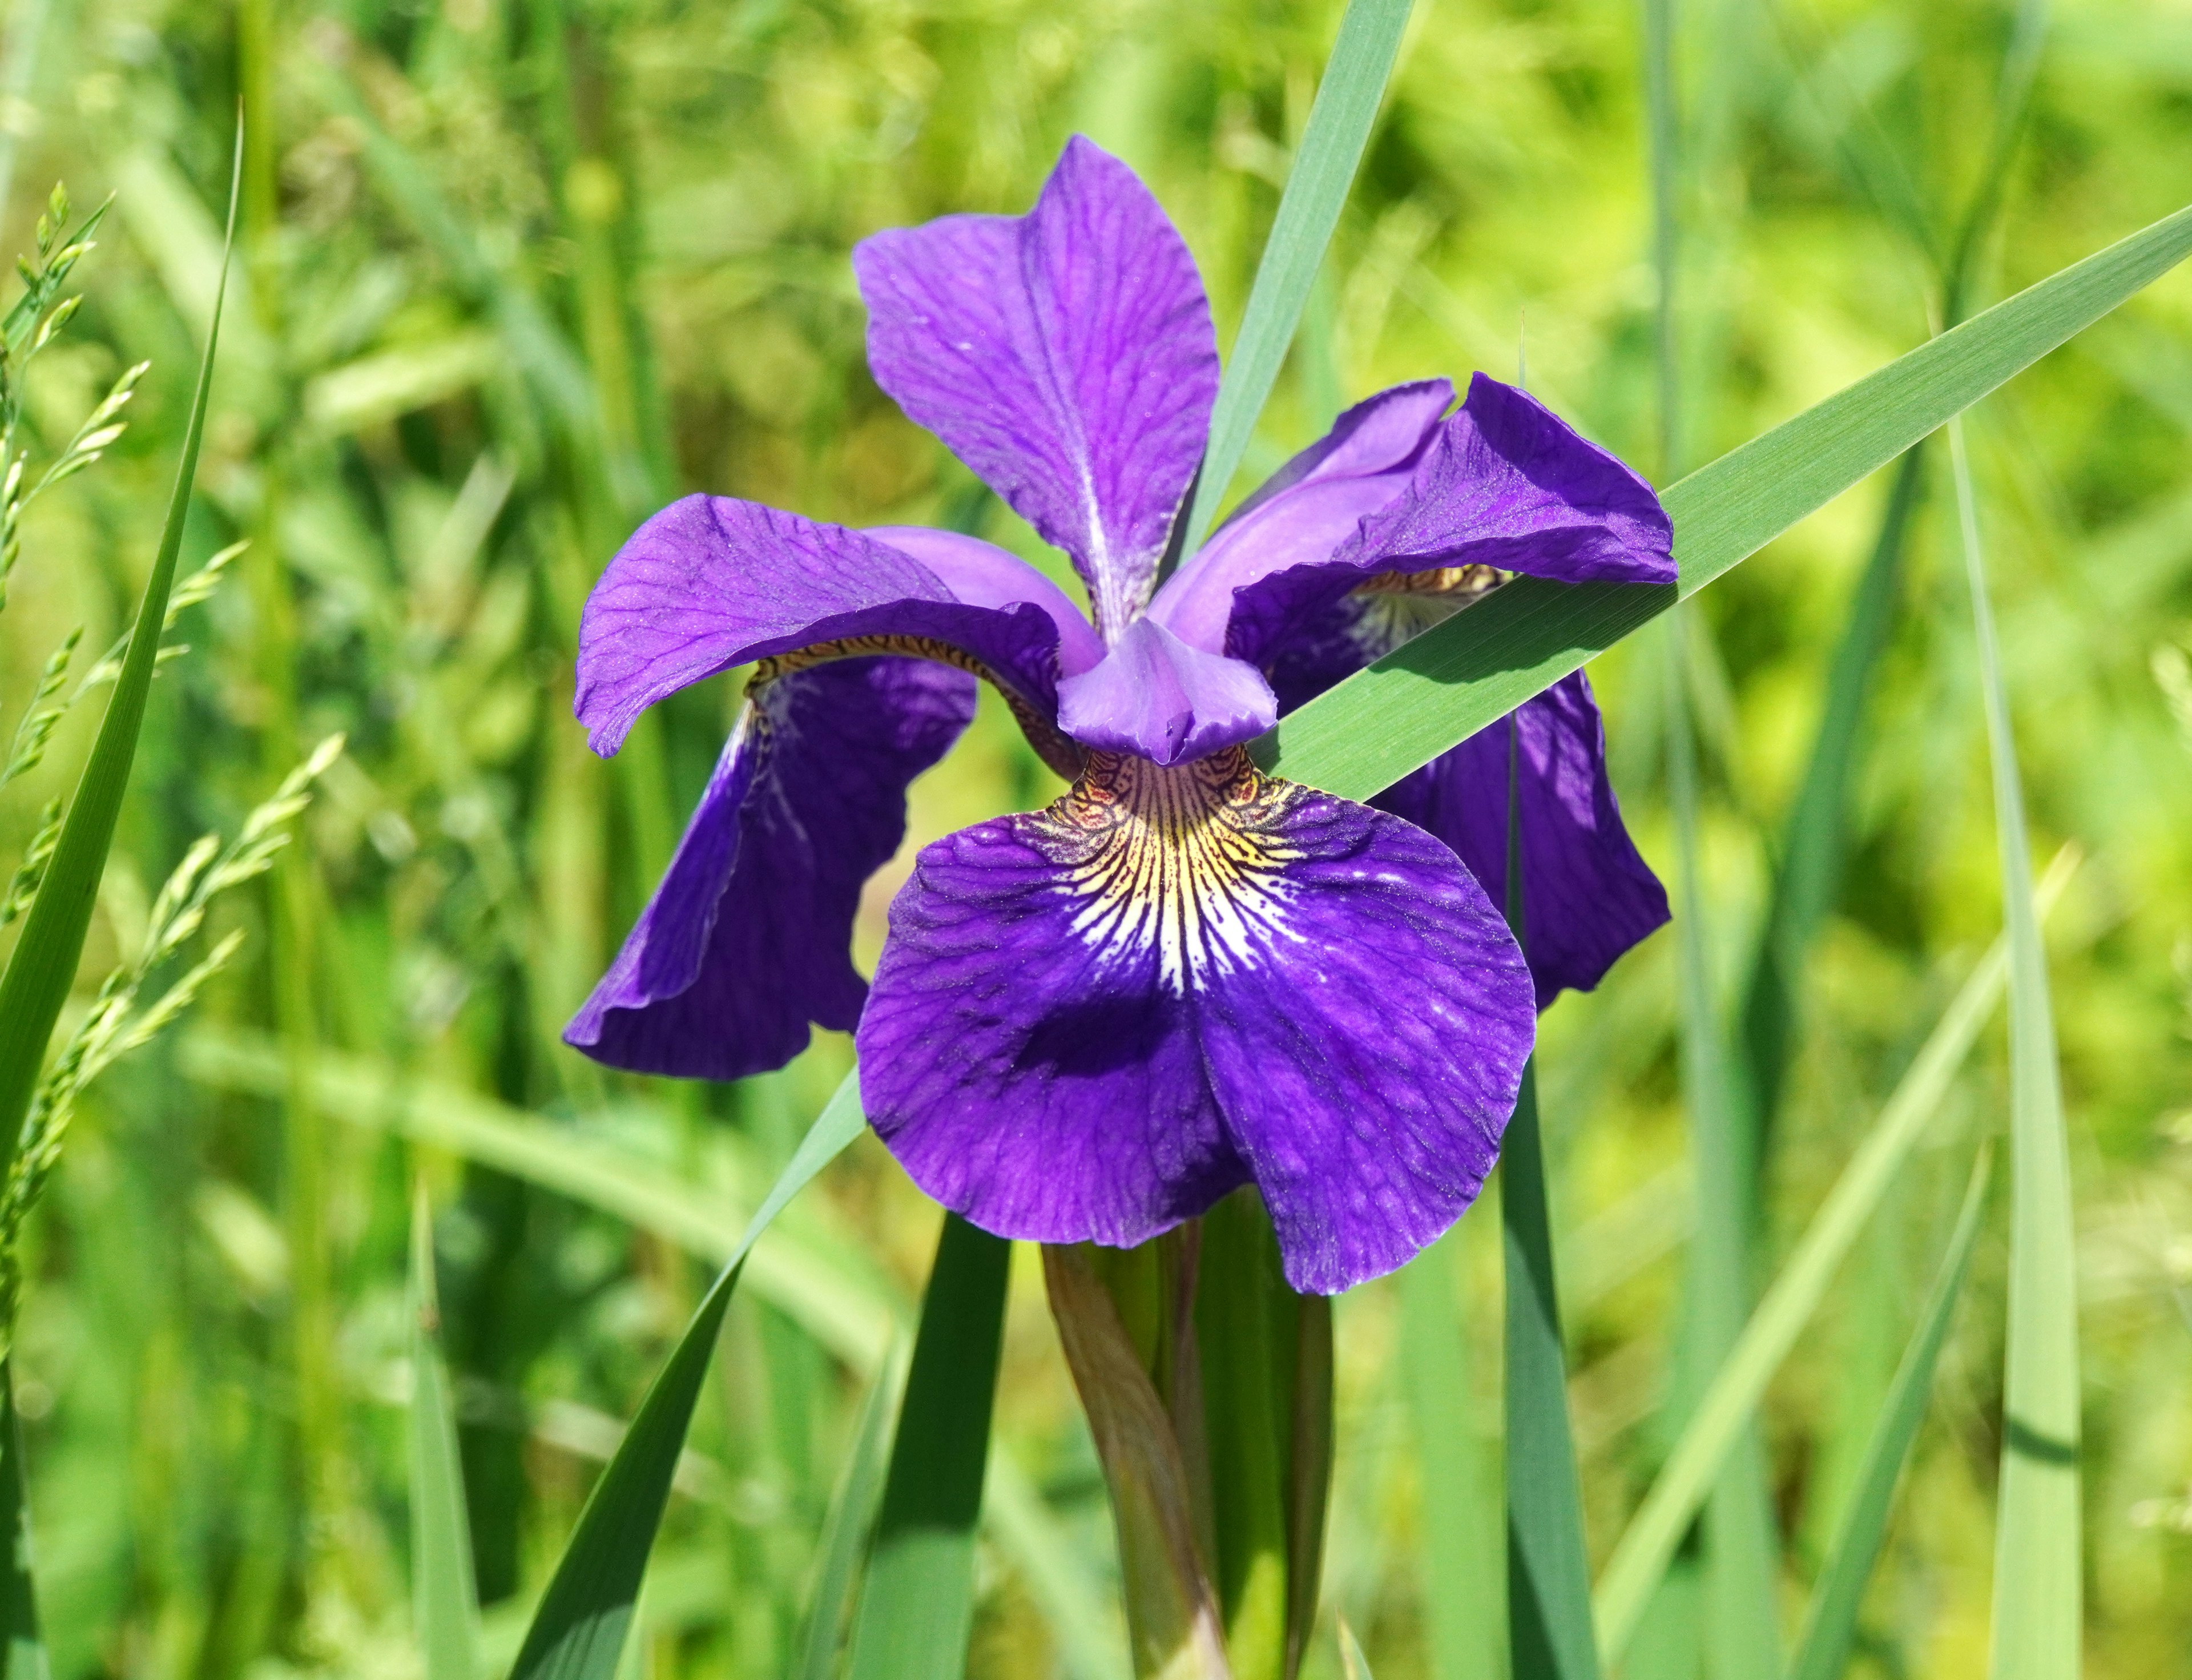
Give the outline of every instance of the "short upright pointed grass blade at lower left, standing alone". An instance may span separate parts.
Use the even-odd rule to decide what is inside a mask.
[[[449,1371],[441,1360],[434,1217],[425,1184],[412,1202],[412,1614],[425,1680],[480,1673],[480,1597],[471,1581],[471,1520],[456,1450]]]

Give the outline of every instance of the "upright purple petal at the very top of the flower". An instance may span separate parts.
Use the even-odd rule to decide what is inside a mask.
[[[1074,136],[1024,217],[947,215],[853,250],[868,366],[1046,542],[1107,638],[1149,599],[1219,388],[1179,232]]]

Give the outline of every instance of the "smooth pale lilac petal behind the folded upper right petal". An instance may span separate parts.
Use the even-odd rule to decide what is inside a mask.
[[[1407,487],[1451,401],[1449,382],[1423,379],[1355,404],[1234,509],[1157,590],[1149,616],[1190,647],[1223,654],[1234,590],[1331,559]]]

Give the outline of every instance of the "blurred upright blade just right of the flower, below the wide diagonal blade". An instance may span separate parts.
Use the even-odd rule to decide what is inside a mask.
[[[1751,1292],[1756,1244],[1749,1211],[1751,1162],[1727,1083],[1727,1046],[1712,996],[1703,866],[1697,833],[1697,739],[1690,730],[1686,638],[1690,614],[1668,618],[1666,735],[1668,794],[1675,807],[1675,853],[1681,910],[1677,967],[1681,972],[1681,1088],[1690,1110],[1697,1156],[1697,1239],[1690,1248],[1690,1333],[1681,1344],[1677,1397],[1694,1395],[1697,1364],[1721,1364],[1734,1347]],[[1679,1452],[1679,1448],[1677,1448]],[[1721,1676],[1773,1676],[1780,1638],[1773,1625],[1773,1577],[1780,1544],[1767,1500],[1765,1450],[1756,1426],[1738,1423],[1721,1454],[1705,1509],[1705,1654]],[[1609,1641],[1607,1656],[1613,1656]]]

